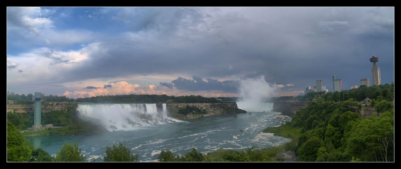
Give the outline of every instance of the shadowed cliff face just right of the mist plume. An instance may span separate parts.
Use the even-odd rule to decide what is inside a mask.
[[[281,112],[283,115],[292,116],[298,110],[308,106],[308,102],[274,102],[273,111]]]

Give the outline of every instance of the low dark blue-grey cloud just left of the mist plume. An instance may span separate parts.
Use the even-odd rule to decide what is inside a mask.
[[[206,78],[207,81],[201,77],[192,76],[191,79],[178,77],[172,80],[175,88],[186,91],[212,91],[218,90],[223,92],[237,93],[239,83],[235,80],[219,81],[217,79]]]

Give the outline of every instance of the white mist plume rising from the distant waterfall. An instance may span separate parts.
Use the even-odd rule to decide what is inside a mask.
[[[265,99],[275,97],[277,90],[275,84],[270,85],[265,81],[265,76],[239,80],[242,99],[237,101],[237,107],[250,112],[272,111],[273,103],[265,103]]]

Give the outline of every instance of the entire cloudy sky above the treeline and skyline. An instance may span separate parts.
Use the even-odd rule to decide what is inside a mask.
[[[394,7],[7,7],[16,94],[237,97],[263,77],[296,96],[372,80],[373,54],[394,81]]]

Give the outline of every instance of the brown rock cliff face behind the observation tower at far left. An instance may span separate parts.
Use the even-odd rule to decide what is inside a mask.
[[[49,111],[64,111],[67,108],[71,108],[73,110],[77,109],[77,103],[63,103],[63,102],[43,102],[42,105],[42,113],[47,113]],[[34,112],[34,105],[7,105],[7,112],[14,111],[16,109],[17,113],[30,113]]]

